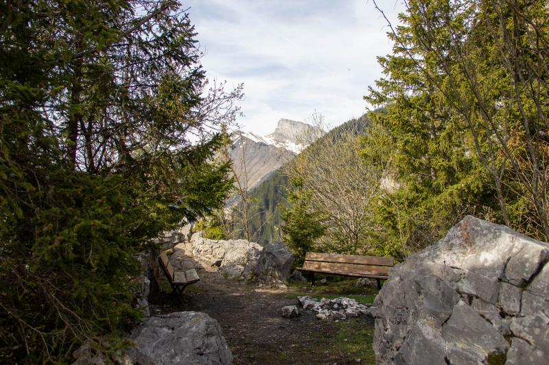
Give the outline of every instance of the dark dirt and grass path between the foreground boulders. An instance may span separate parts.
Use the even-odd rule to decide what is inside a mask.
[[[197,269],[198,270],[198,269]],[[206,270],[183,298],[166,294],[153,313],[196,310],[218,320],[235,364],[368,364],[373,323],[353,318],[336,323],[310,312],[282,318],[281,307],[296,304],[292,289],[257,288],[254,284]],[[154,304],[154,303],[152,303]],[[358,361],[360,359],[360,361]]]

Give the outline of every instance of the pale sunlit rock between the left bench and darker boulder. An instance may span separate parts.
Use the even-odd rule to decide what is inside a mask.
[[[263,249],[247,240],[209,240],[197,232],[191,237],[191,255],[202,266],[219,266],[229,277],[249,278]]]

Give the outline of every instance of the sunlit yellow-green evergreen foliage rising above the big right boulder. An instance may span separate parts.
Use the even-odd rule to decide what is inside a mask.
[[[414,0],[390,27],[366,97],[393,146],[385,249],[405,256],[465,214],[547,238],[546,14],[545,1]]]

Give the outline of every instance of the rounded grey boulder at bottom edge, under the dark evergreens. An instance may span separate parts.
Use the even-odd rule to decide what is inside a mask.
[[[132,331],[137,347],[126,364],[224,365],[233,355],[217,320],[200,312],[174,312],[149,317]]]

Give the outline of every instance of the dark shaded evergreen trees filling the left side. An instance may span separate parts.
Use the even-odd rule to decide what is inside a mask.
[[[240,88],[202,96],[176,1],[0,9],[0,362],[70,362],[84,341],[112,355],[141,317],[135,254],[226,199],[211,131]]]

